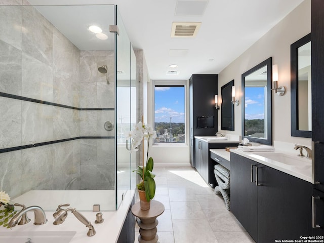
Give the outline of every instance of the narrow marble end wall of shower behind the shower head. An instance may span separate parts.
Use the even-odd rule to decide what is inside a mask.
[[[107,65],[108,75],[98,67]],[[107,77],[109,85],[107,84]],[[115,103],[113,51],[81,51],[80,106],[83,108],[113,108]],[[114,124],[114,110],[83,110],[80,112],[80,136],[113,136],[115,129],[106,131],[104,124]],[[81,188],[114,189],[115,166],[113,139],[81,140]],[[108,188],[107,188],[108,185]]]

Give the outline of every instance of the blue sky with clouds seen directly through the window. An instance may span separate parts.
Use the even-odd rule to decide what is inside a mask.
[[[184,123],[185,89],[184,87],[155,87],[155,123]]]

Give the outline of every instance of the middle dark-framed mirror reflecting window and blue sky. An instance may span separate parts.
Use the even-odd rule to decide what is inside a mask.
[[[272,145],[272,58],[242,74],[242,138]]]

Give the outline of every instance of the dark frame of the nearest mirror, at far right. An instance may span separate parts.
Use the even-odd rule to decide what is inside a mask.
[[[311,138],[312,131],[298,130],[298,48],[311,41],[311,34],[300,38],[290,46],[290,65],[291,65],[291,136]]]

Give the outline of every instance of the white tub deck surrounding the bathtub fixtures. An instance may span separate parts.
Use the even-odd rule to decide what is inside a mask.
[[[46,211],[48,222],[43,225],[34,225],[34,213],[28,212],[30,222],[25,225],[16,225],[11,229],[0,226],[0,239],[2,232],[18,232],[18,231],[76,231],[70,243],[101,243],[101,242],[117,242],[121,228],[123,227],[125,218],[128,213],[129,206],[132,203],[134,190],[128,190],[124,196],[117,211],[101,211],[104,222],[95,224],[96,214],[98,212],[80,211],[94,226],[96,234],[87,236],[88,228],[78,221],[72,213],[68,213],[65,222],[60,225],[53,225],[54,218],[51,211]],[[76,210],[78,210],[76,208]]]

